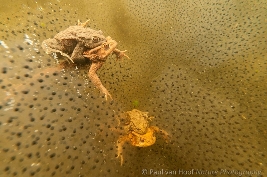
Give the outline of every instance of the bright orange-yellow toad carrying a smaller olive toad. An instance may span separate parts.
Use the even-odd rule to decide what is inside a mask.
[[[118,155],[116,158],[121,157],[121,166],[123,164],[123,144],[125,142],[129,142],[132,146],[135,147],[148,147],[153,145],[156,142],[156,137],[154,135],[154,132],[160,133],[165,142],[168,144],[168,140],[170,136],[166,131],[159,129],[158,127],[155,126],[150,126],[147,128],[147,132],[145,134],[138,134],[137,132],[130,130],[129,134],[127,135],[121,135],[119,139],[117,140],[117,150],[118,150]]]

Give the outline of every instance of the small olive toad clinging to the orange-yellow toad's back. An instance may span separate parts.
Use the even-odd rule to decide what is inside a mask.
[[[151,120],[151,118],[154,118],[148,118],[147,114],[148,112],[142,112],[138,109],[125,112],[124,119],[126,126],[124,127],[124,132],[128,134],[130,130],[133,130],[138,134],[145,134],[149,126],[148,119]]]

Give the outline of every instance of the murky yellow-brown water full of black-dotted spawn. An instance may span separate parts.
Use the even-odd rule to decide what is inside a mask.
[[[266,1],[1,4],[1,176],[266,176]],[[97,73],[113,101],[87,70],[38,74],[57,66],[41,42],[78,19],[128,50]],[[125,144],[120,166],[114,130],[135,106],[172,143]]]

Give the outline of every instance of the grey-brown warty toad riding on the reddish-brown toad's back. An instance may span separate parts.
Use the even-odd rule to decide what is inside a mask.
[[[87,48],[92,49],[107,41],[101,30],[85,28],[88,22],[89,20],[81,23],[78,20],[78,25],[60,31],[53,39],[44,40],[42,48],[46,54],[52,55],[54,58],[64,57],[66,61],[70,60],[72,63],[74,61],[83,62],[85,60],[83,52]]]

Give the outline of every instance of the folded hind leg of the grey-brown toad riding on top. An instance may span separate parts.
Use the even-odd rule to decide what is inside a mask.
[[[68,63],[70,63],[69,60],[74,63],[68,54],[60,50],[60,46],[61,44],[56,39],[46,39],[42,42],[42,48],[45,50],[46,54],[54,55],[55,53],[60,53],[63,57],[66,57],[65,59]]]

